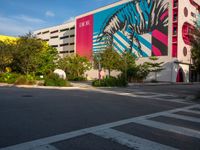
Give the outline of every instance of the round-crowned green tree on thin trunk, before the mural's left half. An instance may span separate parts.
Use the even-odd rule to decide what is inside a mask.
[[[107,47],[102,53],[97,55],[99,55],[101,67],[108,70],[109,77],[112,70],[121,69],[121,56],[113,50],[113,47]]]

